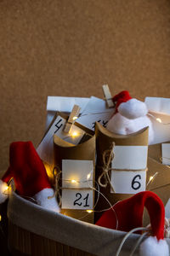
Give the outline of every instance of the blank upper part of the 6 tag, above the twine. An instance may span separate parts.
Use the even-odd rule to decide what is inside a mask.
[[[148,146],[115,146],[113,169],[141,170],[147,166]]]

